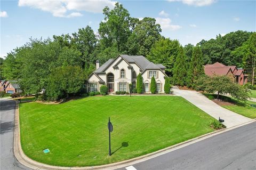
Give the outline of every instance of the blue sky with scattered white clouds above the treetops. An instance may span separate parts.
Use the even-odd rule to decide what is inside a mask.
[[[71,34],[89,25],[98,32],[105,6],[111,0],[18,0],[0,4],[3,58],[29,38]],[[161,24],[162,35],[182,45],[196,44],[231,31],[256,31],[256,1],[167,0],[118,1],[134,18],[151,17]]]

